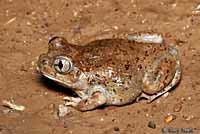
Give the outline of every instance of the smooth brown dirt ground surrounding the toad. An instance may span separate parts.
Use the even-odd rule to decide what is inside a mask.
[[[198,0],[1,0],[0,134],[199,134],[198,4]],[[135,32],[161,33],[179,50],[183,74],[177,88],[151,104],[141,101],[89,112],[69,108],[68,115],[59,118],[58,105],[66,89],[35,70],[48,39],[64,36],[83,45]],[[10,110],[2,100],[26,109]],[[175,119],[166,123],[169,114]],[[148,127],[150,121],[156,128]]]

